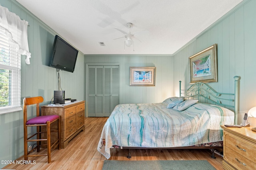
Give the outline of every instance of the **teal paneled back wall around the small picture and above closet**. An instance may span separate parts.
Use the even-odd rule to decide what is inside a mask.
[[[173,58],[170,55],[85,55],[85,63],[120,64],[120,104],[158,103],[173,96]],[[156,67],[155,86],[129,86],[130,66]]]

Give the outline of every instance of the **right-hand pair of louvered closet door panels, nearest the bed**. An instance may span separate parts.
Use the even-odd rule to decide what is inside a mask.
[[[104,66],[104,111],[108,117],[119,104],[119,66]]]

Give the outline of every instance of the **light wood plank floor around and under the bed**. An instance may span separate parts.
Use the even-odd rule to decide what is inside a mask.
[[[47,156],[29,157],[36,164],[11,164],[3,169],[15,170],[101,170],[106,158],[97,150],[101,131],[108,117],[85,118],[85,131],[81,131],[70,141],[65,149],[52,151],[52,162],[47,163]],[[42,149],[40,152],[46,152]],[[128,159],[128,149],[111,149],[110,160],[208,160],[217,170],[223,170],[223,158],[215,154],[210,157],[209,149],[131,149],[132,158]],[[22,156],[18,160],[23,160]]]

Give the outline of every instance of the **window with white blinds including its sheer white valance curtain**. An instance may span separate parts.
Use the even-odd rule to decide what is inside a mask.
[[[28,21],[0,6],[0,114],[22,110],[20,107],[20,58],[28,50]]]

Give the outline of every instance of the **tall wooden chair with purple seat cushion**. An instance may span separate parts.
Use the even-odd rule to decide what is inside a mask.
[[[39,104],[44,101],[44,98],[41,96],[33,97],[33,98],[24,98],[23,99],[23,116],[24,116],[24,159],[28,160],[29,156],[48,156],[48,163],[51,162],[51,149],[55,149],[57,146],[60,149],[60,118],[58,115],[46,115],[40,116]],[[27,106],[28,105],[36,105],[36,117],[27,120]],[[58,139],[54,141],[51,146],[51,130],[50,125],[58,121],[58,130],[52,130],[52,132],[58,132]],[[36,133],[28,137],[28,127],[36,126]],[[40,127],[44,127],[41,128]],[[44,131],[41,132],[41,130]],[[55,128],[56,129],[56,128]],[[41,139],[41,133],[44,134],[43,139]],[[34,139],[36,136],[36,139]],[[34,137],[33,139],[31,139]],[[47,154],[30,154],[34,149],[28,151],[28,142],[36,142],[37,152],[40,151],[41,141],[44,141],[47,146]],[[30,154],[30,155],[28,155]]]

